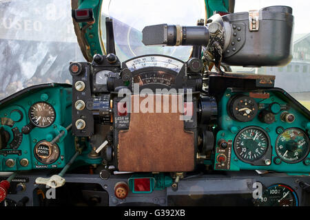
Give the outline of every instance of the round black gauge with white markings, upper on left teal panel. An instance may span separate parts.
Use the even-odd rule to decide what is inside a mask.
[[[34,126],[45,128],[53,124],[56,118],[56,112],[48,102],[37,102],[30,107],[29,118]]]

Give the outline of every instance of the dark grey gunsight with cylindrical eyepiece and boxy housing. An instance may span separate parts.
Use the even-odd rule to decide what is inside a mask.
[[[292,9],[216,14],[204,26],[151,25],[143,29],[145,45],[202,45],[205,56],[227,65],[277,66],[292,59]]]

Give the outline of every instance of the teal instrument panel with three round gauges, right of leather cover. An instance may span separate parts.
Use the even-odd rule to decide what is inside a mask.
[[[225,91],[216,170],[310,172],[309,111],[285,94],[282,89]]]

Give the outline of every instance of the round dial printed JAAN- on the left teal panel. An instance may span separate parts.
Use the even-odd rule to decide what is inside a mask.
[[[56,162],[59,155],[60,150],[56,143],[51,144],[50,142],[41,140],[41,142],[38,142],[36,146],[34,146],[34,156],[42,164],[52,164]]]

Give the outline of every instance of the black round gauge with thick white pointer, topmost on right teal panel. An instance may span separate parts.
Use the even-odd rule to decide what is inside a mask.
[[[258,113],[258,104],[249,96],[234,96],[228,101],[228,113],[239,122],[249,122]]]

